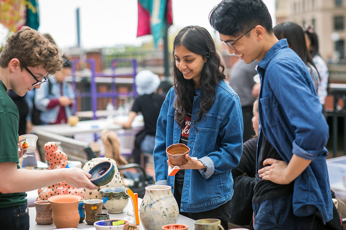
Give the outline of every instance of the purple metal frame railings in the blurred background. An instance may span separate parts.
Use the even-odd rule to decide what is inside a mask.
[[[116,68],[117,68],[117,63],[119,62],[131,62],[132,63],[132,72],[131,73],[123,73],[123,74],[117,74],[116,73]],[[96,116],[96,110],[97,110],[97,99],[98,98],[106,98],[106,97],[111,97],[112,98],[112,103],[114,108],[117,108],[117,98],[120,96],[132,96],[132,97],[136,97],[137,93],[136,93],[136,84],[135,84],[135,77],[137,74],[137,61],[136,59],[114,59],[111,60],[111,74],[105,74],[105,73],[96,73],[95,72],[95,59],[90,58],[90,59],[86,59],[85,61],[80,61],[80,60],[74,60],[73,61],[73,65],[72,65],[72,87],[76,93],[76,97],[90,97],[91,98],[91,110],[93,112],[93,117],[92,119],[95,120],[97,119]],[[76,81],[75,81],[75,77],[76,77],[76,64],[79,63],[89,63],[90,64],[90,70],[91,70],[91,79],[90,79],[90,92],[80,92],[77,93],[76,92]],[[132,91],[131,92],[117,92],[117,88],[116,88],[116,78],[119,77],[128,77],[128,76],[132,76],[133,78],[133,84],[132,84]],[[111,92],[104,92],[104,93],[98,93],[97,92],[97,82],[96,82],[96,78],[97,77],[111,77],[112,81],[111,81]],[[74,108],[73,111],[76,112],[76,104],[74,104]]]

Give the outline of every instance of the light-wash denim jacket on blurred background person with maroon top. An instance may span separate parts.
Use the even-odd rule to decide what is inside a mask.
[[[58,99],[60,94],[60,85],[54,76],[49,75],[49,81],[52,83],[51,93],[49,94],[49,84],[48,82],[40,85],[39,89],[35,90],[35,107],[42,111],[40,115],[40,120],[45,123],[55,123],[58,118],[60,111],[60,105],[55,106],[52,109],[47,109],[47,106],[51,99]],[[70,83],[63,81],[63,95],[68,98],[75,99],[75,93],[72,89]],[[72,110],[70,106],[65,106],[66,118],[69,118],[72,115]]]

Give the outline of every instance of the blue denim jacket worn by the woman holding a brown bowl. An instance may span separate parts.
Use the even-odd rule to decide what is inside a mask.
[[[195,123],[200,106],[201,89],[194,97],[188,147],[190,156],[197,157],[206,169],[186,169],[181,211],[212,210],[233,196],[231,169],[239,164],[243,150],[243,116],[238,95],[221,81],[216,87],[215,102],[206,117]],[[176,99],[171,88],[157,120],[154,149],[155,184],[167,184],[174,191],[174,176],[168,176],[166,148],[179,143],[181,130],[174,120]]]

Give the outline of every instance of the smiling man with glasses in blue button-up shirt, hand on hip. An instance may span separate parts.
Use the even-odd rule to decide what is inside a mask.
[[[224,0],[209,21],[229,53],[259,61],[254,228],[312,229],[316,211],[325,224],[333,215],[328,124],[306,65],[286,39],[275,37],[261,0]]]

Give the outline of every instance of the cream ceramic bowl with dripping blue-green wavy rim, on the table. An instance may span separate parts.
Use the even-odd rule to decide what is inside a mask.
[[[125,187],[108,187],[100,189],[103,206],[110,213],[120,213],[127,206],[129,196],[125,193]]]

